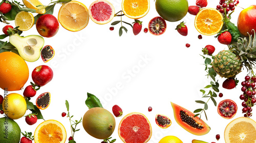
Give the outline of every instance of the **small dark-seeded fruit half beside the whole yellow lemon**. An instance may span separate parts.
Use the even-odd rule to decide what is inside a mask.
[[[44,110],[44,109],[48,108],[48,106],[51,103],[51,93],[45,92],[45,93],[40,94],[40,96],[38,96],[38,98],[36,99],[35,103],[36,103],[36,107],[38,109]]]

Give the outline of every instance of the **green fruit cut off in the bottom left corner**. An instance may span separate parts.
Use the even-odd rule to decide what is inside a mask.
[[[18,143],[20,139],[20,128],[18,124],[8,117],[0,118],[0,142]]]

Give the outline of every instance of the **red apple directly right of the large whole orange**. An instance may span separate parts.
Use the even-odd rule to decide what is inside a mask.
[[[38,86],[44,86],[50,82],[53,78],[53,71],[51,67],[47,65],[37,66],[32,71],[32,80]]]

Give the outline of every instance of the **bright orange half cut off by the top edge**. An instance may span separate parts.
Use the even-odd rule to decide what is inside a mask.
[[[145,16],[149,10],[149,0],[122,0],[122,11],[129,18],[139,19]]]

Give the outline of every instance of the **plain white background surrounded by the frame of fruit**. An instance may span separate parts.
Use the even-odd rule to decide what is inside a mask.
[[[87,7],[94,0],[80,1]],[[20,1],[21,2],[21,1]],[[49,1],[50,2],[50,1]],[[48,1],[42,1],[48,5]],[[114,5],[116,12],[121,10],[121,0],[110,0]],[[188,0],[188,4],[195,5],[196,0]],[[208,1],[210,8],[216,8],[218,0]],[[231,21],[237,24],[237,18],[242,8],[247,8],[255,4],[253,0],[240,1],[239,7],[236,7],[232,14]],[[61,5],[56,5],[54,16],[57,17]],[[224,130],[226,125],[234,118],[243,116],[242,101],[239,99],[242,93],[241,81],[246,76],[246,69],[240,73],[237,78],[240,80],[236,89],[223,89],[220,92],[224,94],[223,98],[216,98],[217,104],[224,99],[231,99],[238,104],[238,112],[230,120],[222,118],[217,113],[214,104],[208,102],[206,121],[205,116],[202,119],[211,127],[208,134],[203,136],[193,135],[180,127],[174,118],[173,109],[170,102],[174,102],[190,111],[203,108],[202,104],[197,104],[195,100],[202,99],[200,89],[209,84],[207,79],[204,59],[200,56],[201,50],[205,45],[211,44],[216,47],[213,55],[222,50],[227,50],[226,45],[220,44],[214,36],[203,36],[198,39],[200,34],[194,26],[194,15],[187,15],[180,21],[167,22],[167,29],[161,36],[154,36],[143,33],[150,19],[159,16],[155,9],[155,2],[151,1],[150,11],[141,18],[143,21],[142,32],[134,36],[132,28],[123,24],[128,29],[128,33],[118,35],[120,23],[115,26],[114,31],[110,31],[111,22],[120,20],[120,17],[114,19],[106,25],[97,25],[91,19],[86,28],[79,32],[70,32],[59,26],[58,33],[52,38],[45,38],[45,45],[52,45],[56,54],[48,63],[44,63],[41,58],[36,62],[27,62],[30,70],[30,78],[25,87],[30,84],[31,72],[38,65],[48,65],[54,72],[53,80],[37,91],[35,98],[43,92],[51,92],[51,104],[46,110],[41,110],[45,120],[54,119],[61,122],[67,130],[67,140],[71,136],[70,124],[67,117],[61,117],[62,112],[66,112],[65,100],[70,103],[70,113],[74,115],[74,120],[80,117],[88,110],[84,103],[87,99],[87,92],[90,92],[100,98],[103,107],[112,112],[112,106],[117,104],[123,109],[123,114],[130,112],[140,112],[147,116],[153,129],[151,140],[148,142],[157,143],[162,137],[175,135],[183,142],[191,142],[193,139],[200,139],[207,142],[224,142]],[[123,16],[123,20],[132,23],[134,20]],[[181,36],[176,30],[176,26],[183,21],[188,27],[188,35]],[[14,21],[11,25],[15,27]],[[5,24],[0,23],[1,27]],[[22,35],[39,35],[33,26],[29,31]],[[4,39],[8,40],[8,38]],[[187,48],[186,43],[191,46]],[[141,57],[147,57],[147,63],[139,66]],[[142,62],[143,63],[143,62]],[[132,71],[132,76],[129,75]],[[225,79],[218,77],[220,86]],[[116,84],[122,84],[121,89],[114,91]],[[22,91],[14,91],[23,94]],[[4,93],[1,89],[0,93]],[[218,93],[217,93],[218,94]],[[148,106],[152,106],[153,111],[148,112]],[[252,113],[254,113],[254,108]],[[29,114],[30,112],[26,112]],[[170,118],[172,125],[167,129],[161,129],[155,123],[156,114],[164,114]],[[123,116],[124,116],[123,115]],[[3,115],[0,115],[3,116]],[[116,118],[116,117],[115,117]],[[122,142],[118,136],[118,125],[122,117],[116,118],[116,129],[112,135],[118,143]],[[255,115],[251,117],[255,120]],[[25,122],[25,117],[15,120],[22,132],[34,132],[35,128],[43,121],[38,120],[35,125],[29,126]],[[101,142],[86,131],[82,124],[79,124],[80,131],[75,133],[76,142]],[[220,140],[215,138],[220,134]],[[68,142],[68,141],[66,141]]]

